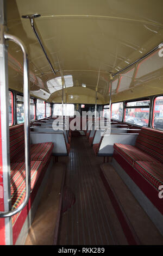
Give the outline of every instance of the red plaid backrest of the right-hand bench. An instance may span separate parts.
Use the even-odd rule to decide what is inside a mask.
[[[142,127],[135,147],[163,162],[163,131]]]

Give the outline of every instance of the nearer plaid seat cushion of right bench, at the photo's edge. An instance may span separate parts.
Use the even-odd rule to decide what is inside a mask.
[[[157,190],[160,185],[163,185],[163,164],[161,162],[136,161],[134,168]]]

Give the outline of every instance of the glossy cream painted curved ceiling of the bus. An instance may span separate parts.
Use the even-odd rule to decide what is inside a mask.
[[[60,102],[61,92],[50,95],[47,81],[63,74],[73,77],[73,87],[66,89],[69,102],[92,103],[96,88],[98,103],[109,102],[109,72],[124,68],[163,41],[162,7],[162,0],[8,0],[8,33],[18,36],[29,53],[31,95]],[[22,15],[34,13],[41,15],[35,24],[53,67],[58,70],[56,75],[29,20],[22,19]],[[159,63],[154,70],[153,61]],[[149,72],[136,77],[135,66],[123,77],[118,76],[112,99],[163,93],[161,61],[163,57],[160,60],[156,53],[147,65]],[[22,53],[12,42],[9,87],[22,91]],[[71,99],[70,95],[74,97]]]

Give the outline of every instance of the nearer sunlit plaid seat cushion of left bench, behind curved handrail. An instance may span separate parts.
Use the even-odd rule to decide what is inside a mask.
[[[31,191],[39,178],[40,172],[43,168],[42,161],[30,162],[30,186]],[[25,163],[11,163],[11,204],[12,210],[16,209],[22,204],[26,196],[26,171]],[[12,223],[14,225],[18,214],[12,217]]]

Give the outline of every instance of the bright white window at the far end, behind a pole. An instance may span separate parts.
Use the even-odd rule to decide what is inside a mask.
[[[53,115],[62,115],[62,104],[53,105]],[[64,104],[64,115],[74,115],[74,104]]]

